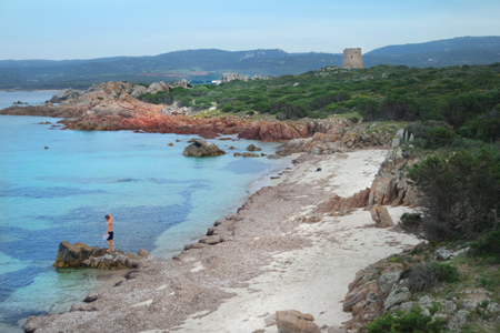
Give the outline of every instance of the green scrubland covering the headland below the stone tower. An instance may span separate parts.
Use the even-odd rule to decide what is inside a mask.
[[[172,91],[167,100],[184,97],[198,105],[230,104],[232,112],[258,111],[281,120],[358,112],[364,121],[421,121],[410,131],[430,145],[442,145],[454,135],[500,139],[499,85],[500,63],[441,69],[322,68],[296,77],[197,85]]]

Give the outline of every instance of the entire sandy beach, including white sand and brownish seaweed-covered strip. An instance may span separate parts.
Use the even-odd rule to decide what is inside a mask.
[[[356,272],[418,240],[374,228],[363,209],[343,216],[317,216],[316,209],[334,194],[347,198],[370,186],[386,154],[301,155],[173,260],[150,258],[97,301],[79,304],[80,311],[29,324],[37,333],[271,333],[278,332],[276,311],[298,310],[322,329],[341,326],[351,319],[341,302]],[[408,209],[388,210],[397,222]]]

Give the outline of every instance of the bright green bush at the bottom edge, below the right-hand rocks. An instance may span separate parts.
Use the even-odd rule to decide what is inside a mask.
[[[367,324],[368,333],[441,333],[444,322],[442,319],[433,320],[422,313],[417,304],[407,313],[399,312],[397,316],[388,313]]]

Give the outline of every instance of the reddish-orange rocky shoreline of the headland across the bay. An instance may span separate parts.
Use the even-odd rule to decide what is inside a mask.
[[[333,135],[334,141],[343,139],[351,149],[354,145],[366,147],[364,144],[383,145],[390,139],[386,134],[362,135],[362,127],[351,131],[349,128],[352,122],[346,119],[277,121],[241,115],[212,118],[207,113],[187,109],[179,101],[166,105],[140,100],[140,94],[147,91],[170,89],[168,84],[161,83],[152,83],[148,89],[129,82],[96,84],[87,91],[69,89],[43,105],[12,105],[0,110],[0,114],[66,118],[60,121],[63,124],[62,130],[130,130],[149,133],[199,134],[206,139],[214,139],[220,134],[238,134],[241,139],[279,141],[312,138],[316,133],[324,133],[326,138],[316,138],[322,140],[323,145],[329,145]],[[179,87],[186,85],[182,85],[182,82],[179,84]],[[357,138],[351,140],[351,134]],[[323,150],[327,153],[328,149],[321,149],[318,152],[321,153]]]

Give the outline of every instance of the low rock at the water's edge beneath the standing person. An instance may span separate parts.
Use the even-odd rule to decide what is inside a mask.
[[[138,255],[123,251],[107,252],[107,249],[90,248],[84,243],[70,244],[63,241],[59,244],[56,268],[92,268],[103,270],[136,269],[139,261],[149,256],[148,251],[141,249]]]

